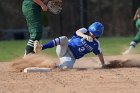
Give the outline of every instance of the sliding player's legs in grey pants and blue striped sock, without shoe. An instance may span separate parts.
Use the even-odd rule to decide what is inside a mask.
[[[48,43],[44,44],[42,49],[44,50],[55,46],[57,46],[56,53],[60,59],[60,64],[58,64],[57,66],[62,69],[73,68],[75,58],[71,50],[68,48],[68,38],[66,36],[55,38],[54,40],[51,40]]]

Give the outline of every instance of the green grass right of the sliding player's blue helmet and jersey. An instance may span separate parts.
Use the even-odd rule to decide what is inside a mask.
[[[122,52],[128,49],[132,39],[133,37],[101,38],[100,43],[104,55],[120,55]],[[133,49],[133,52],[140,53],[139,45]]]

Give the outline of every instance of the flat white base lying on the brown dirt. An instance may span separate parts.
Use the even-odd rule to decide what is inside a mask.
[[[51,68],[39,68],[39,67],[28,67],[23,70],[23,72],[49,72],[51,71]]]

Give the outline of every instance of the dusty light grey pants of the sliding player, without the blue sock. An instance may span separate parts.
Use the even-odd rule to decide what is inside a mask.
[[[68,38],[63,36],[61,38],[61,42],[62,43],[56,47],[56,53],[60,59],[60,64],[58,67],[62,69],[71,69],[75,63],[75,58],[68,47]]]

